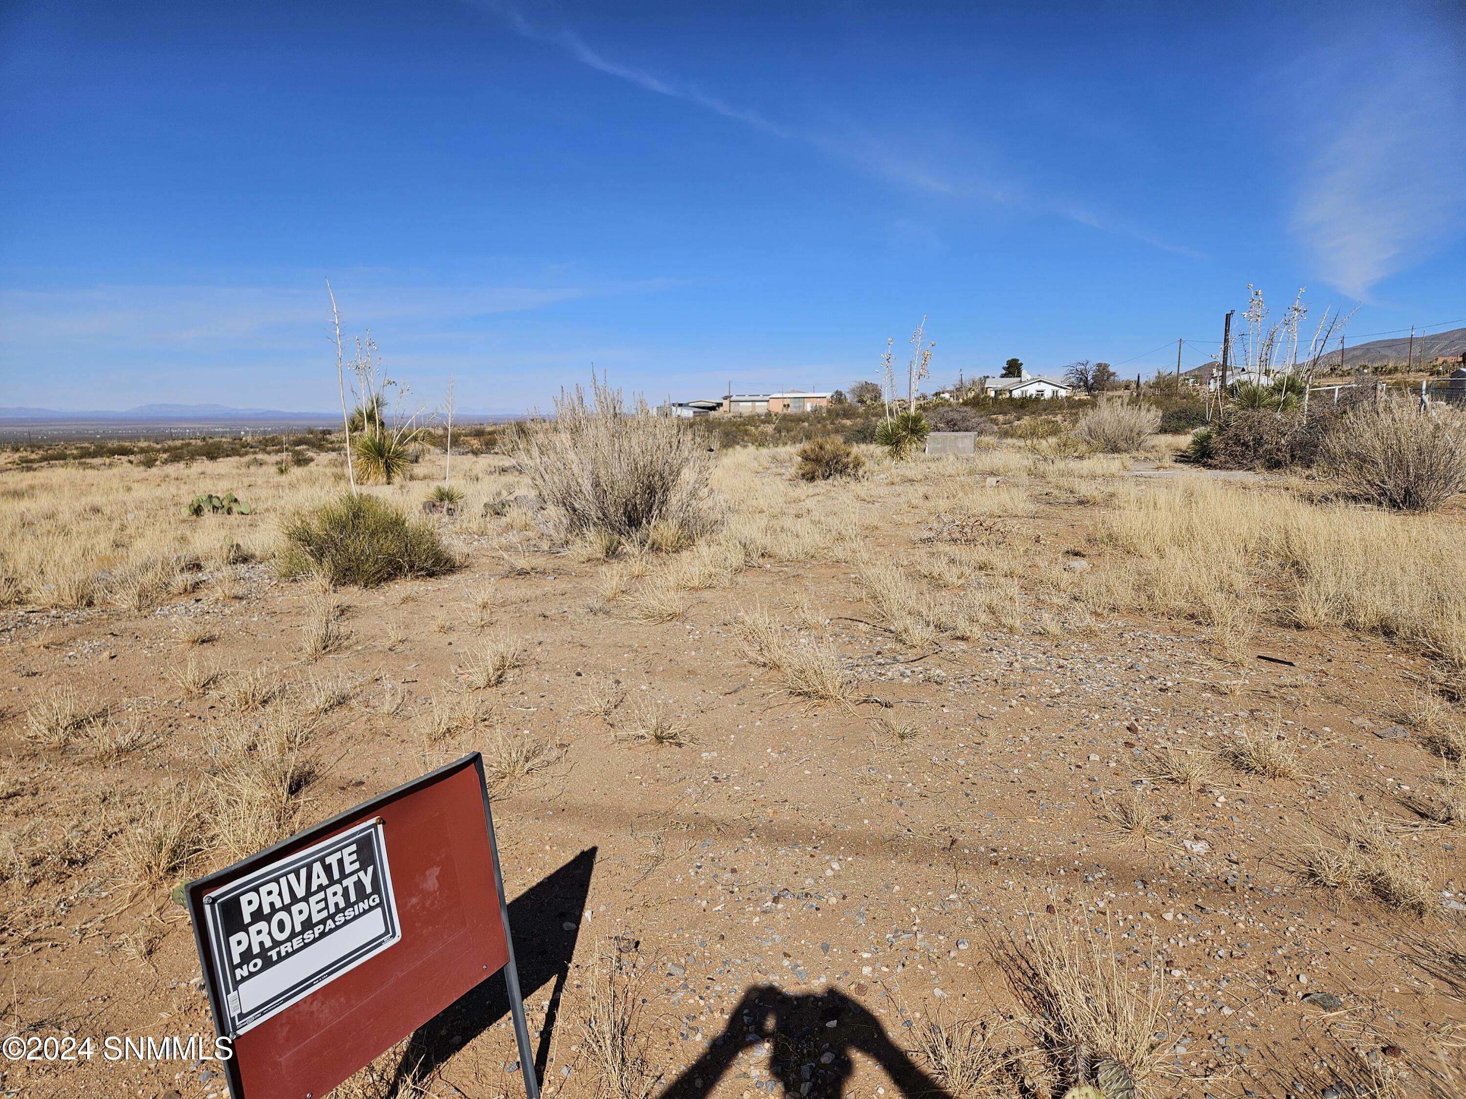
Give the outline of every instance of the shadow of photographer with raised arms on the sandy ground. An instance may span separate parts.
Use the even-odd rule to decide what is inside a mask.
[[[909,1099],[951,1099],[891,1042],[881,1021],[856,1001],[836,989],[790,995],[773,985],[755,986],[743,993],[723,1033],[671,1081],[660,1099],[704,1099],[733,1067],[737,1055],[755,1042],[770,1048],[765,1090],[773,1090],[777,1081],[786,1096],[840,1099],[855,1071],[850,1055],[862,1052],[881,1065],[897,1093]]]

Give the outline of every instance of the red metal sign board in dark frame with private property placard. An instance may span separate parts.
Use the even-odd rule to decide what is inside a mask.
[[[235,1099],[320,1099],[500,969],[538,1099],[475,752],[188,885]]]

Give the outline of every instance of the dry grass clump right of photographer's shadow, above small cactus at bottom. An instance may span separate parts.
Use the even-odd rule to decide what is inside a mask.
[[[1009,957],[1014,991],[1029,1005],[1032,1026],[1063,1064],[1094,1065],[1070,1073],[1091,1083],[1123,1068],[1139,1086],[1160,1062],[1165,996],[1160,980],[1138,985],[1116,960],[1110,936],[1051,925],[1034,928]]]

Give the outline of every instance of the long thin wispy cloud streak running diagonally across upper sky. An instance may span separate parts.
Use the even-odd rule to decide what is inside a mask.
[[[724,119],[746,123],[784,141],[808,145],[853,171],[883,179],[906,190],[959,202],[981,202],[1009,211],[1029,210],[1056,214],[1088,229],[1139,240],[1151,248],[1189,256],[1199,255],[1190,249],[1170,245],[1155,234],[1135,229],[1121,220],[1104,217],[1088,210],[1080,202],[1060,196],[1045,199],[1036,193],[1032,185],[1016,179],[998,179],[991,169],[962,173],[943,171],[940,167],[913,155],[909,148],[894,147],[853,122],[822,129],[776,122],[755,110],[730,104],[723,97],[714,95],[698,85],[667,79],[647,69],[613,60],[601,50],[591,47],[575,31],[569,28],[547,28],[531,22],[525,18],[523,12],[510,3],[481,0],[481,4],[503,19],[520,37],[551,45],[597,72],[627,81],[657,95],[682,100],[683,103],[720,114]]]

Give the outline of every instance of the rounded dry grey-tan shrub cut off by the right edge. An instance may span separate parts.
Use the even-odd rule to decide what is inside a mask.
[[[1434,511],[1466,485],[1466,418],[1397,397],[1356,407],[1319,457],[1349,492],[1397,511]]]

